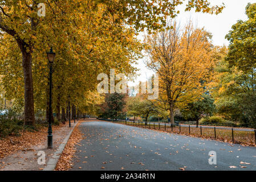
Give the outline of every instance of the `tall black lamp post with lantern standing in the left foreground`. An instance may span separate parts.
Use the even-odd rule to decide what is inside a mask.
[[[52,100],[52,64],[54,63],[55,53],[50,49],[47,52],[48,61],[50,64],[50,90],[49,90],[49,124],[48,124],[48,148],[52,148],[52,129],[51,129],[51,100]]]

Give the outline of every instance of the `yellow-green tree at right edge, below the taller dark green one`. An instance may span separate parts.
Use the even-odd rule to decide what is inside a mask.
[[[216,68],[213,96],[218,113],[235,122],[255,127],[256,72],[239,71],[222,60]]]

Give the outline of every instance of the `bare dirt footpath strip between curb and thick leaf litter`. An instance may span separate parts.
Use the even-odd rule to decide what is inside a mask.
[[[74,125],[72,121],[71,126]],[[47,132],[46,129],[39,131],[38,135],[34,137],[39,137],[36,142],[33,144],[23,147],[20,145],[18,147],[22,148],[21,150],[11,152],[11,154],[0,159],[0,171],[36,171],[42,170],[48,159],[54,152],[57,150],[59,145],[63,142],[64,138],[70,132],[71,128],[68,127],[68,122],[65,125],[58,127],[53,127],[53,147],[52,149],[47,149]],[[42,133],[44,132],[44,133]],[[10,144],[9,144],[10,145]],[[13,144],[15,148],[15,144]],[[38,164],[38,159],[42,158],[42,154],[39,151],[43,151],[46,154],[46,164]],[[38,155],[39,152],[39,155]],[[39,160],[42,163],[42,160]]]

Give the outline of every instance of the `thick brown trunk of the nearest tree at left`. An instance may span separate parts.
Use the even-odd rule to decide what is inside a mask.
[[[18,42],[18,41],[17,41]],[[35,112],[34,112],[34,91],[32,80],[32,53],[26,52],[25,45],[18,42],[22,52],[22,67],[24,77],[24,125],[35,126]]]

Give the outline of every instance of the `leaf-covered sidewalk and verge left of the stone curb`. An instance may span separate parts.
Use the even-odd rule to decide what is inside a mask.
[[[73,126],[74,121],[71,122],[71,128],[68,127],[68,122],[65,125],[52,127],[54,147],[52,149],[47,149],[47,128],[34,133],[23,133],[20,137],[0,140],[0,171],[43,170]],[[39,151],[45,152],[46,164],[38,164]]]

